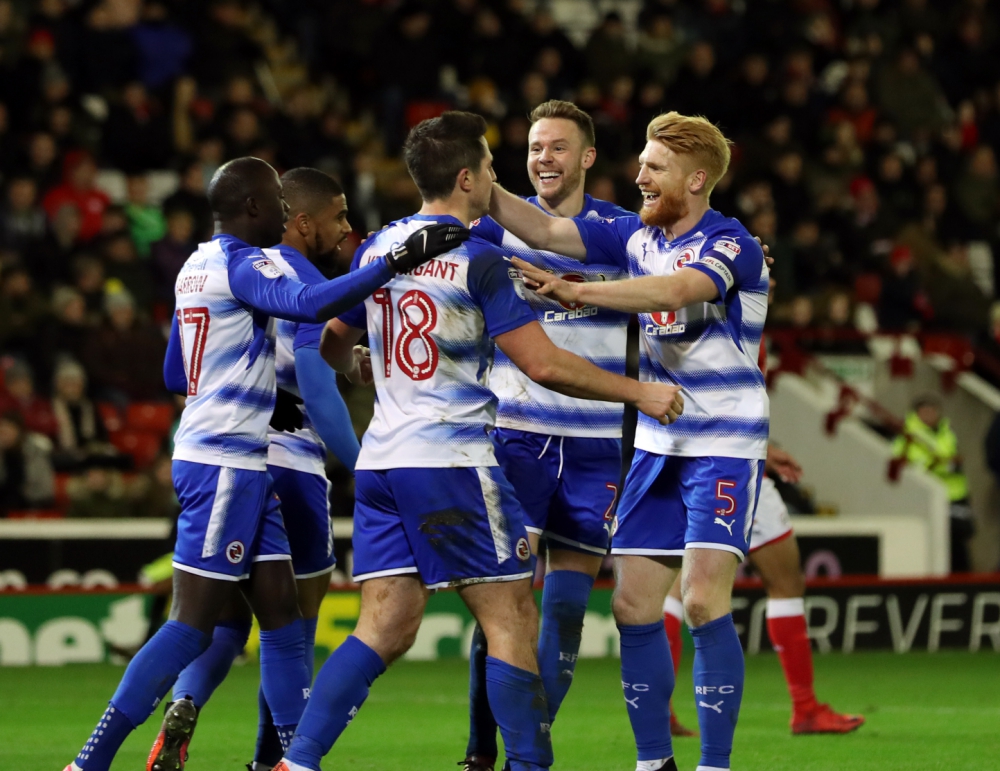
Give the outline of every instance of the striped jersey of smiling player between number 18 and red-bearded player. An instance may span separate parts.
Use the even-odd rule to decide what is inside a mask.
[[[538,206],[537,196],[528,201]],[[595,200],[588,195],[585,196],[583,210],[576,218],[602,220],[628,214],[613,203]],[[566,281],[617,281],[628,276],[628,271],[620,267],[620,261],[583,264],[554,252],[532,249],[489,217],[473,223],[472,232],[496,244],[504,256],[520,257]],[[627,313],[590,305],[563,304],[535,292],[525,292],[520,279],[517,280],[517,292],[535,311],[542,329],[553,343],[598,367],[619,375],[625,374]],[[623,405],[577,399],[550,391],[521,372],[503,351],[497,351],[490,388],[500,400],[498,426],[554,436],[617,439],[622,435]]]

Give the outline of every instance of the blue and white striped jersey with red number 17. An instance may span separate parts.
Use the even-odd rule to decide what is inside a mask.
[[[174,285],[164,379],[187,394],[174,459],[263,471],[275,400],[275,321],[317,323],[355,306],[393,276],[385,260],[304,284],[231,235],[199,244]]]

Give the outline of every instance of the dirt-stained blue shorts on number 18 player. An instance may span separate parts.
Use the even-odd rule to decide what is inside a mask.
[[[430,589],[530,578],[524,515],[496,466],[357,472],[354,580],[419,574]]]

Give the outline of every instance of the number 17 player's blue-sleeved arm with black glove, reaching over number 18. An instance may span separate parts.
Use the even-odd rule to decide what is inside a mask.
[[[428,225],[384,257],[319,284],[292,281],[259,250],[252,250],[229,261],[229,284],[237,299],[270,316],[300,322],[326,321],[356,306],[397,273],[408,273],[468,238],[468,229],[458,225]]]

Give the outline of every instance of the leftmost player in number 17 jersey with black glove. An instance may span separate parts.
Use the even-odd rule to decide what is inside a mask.
[[[245,579],[262,630],[264,690],[279,731],[291,732],[308,698],[309,676],[288,540],[266,471],[276,389],[271,317],[330,318],[397,269],[412,269],[468,235],[464,228],[442,228],[409,244],[405,255],[307,286],[286,278],[259,248],[281,238],[287,216],[274,169],[257,158],[230,161],[215,173],[208,195],[217,235],[178,275],[169,347],[180,346],[184,366],[165,368],[168,386],[180,384],[188,394],[174,440],[181,514],[171,616],[130,662],[70,771],[110,768],[129,733],[208,647],[233,584]],[[167,363],[177,358],[168,352]],[[183,758],[180,746],[154,747],[147,767],[174,771]]]

